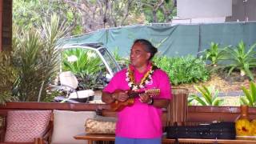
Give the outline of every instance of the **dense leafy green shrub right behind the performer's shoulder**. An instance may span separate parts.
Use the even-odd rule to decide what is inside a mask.
[[[154,58],[155,64],[169,74],[173,85],[191,82],[205,82],[210,78],[210,72],[206,69],[202,58],[192,56],[181,58]]]

